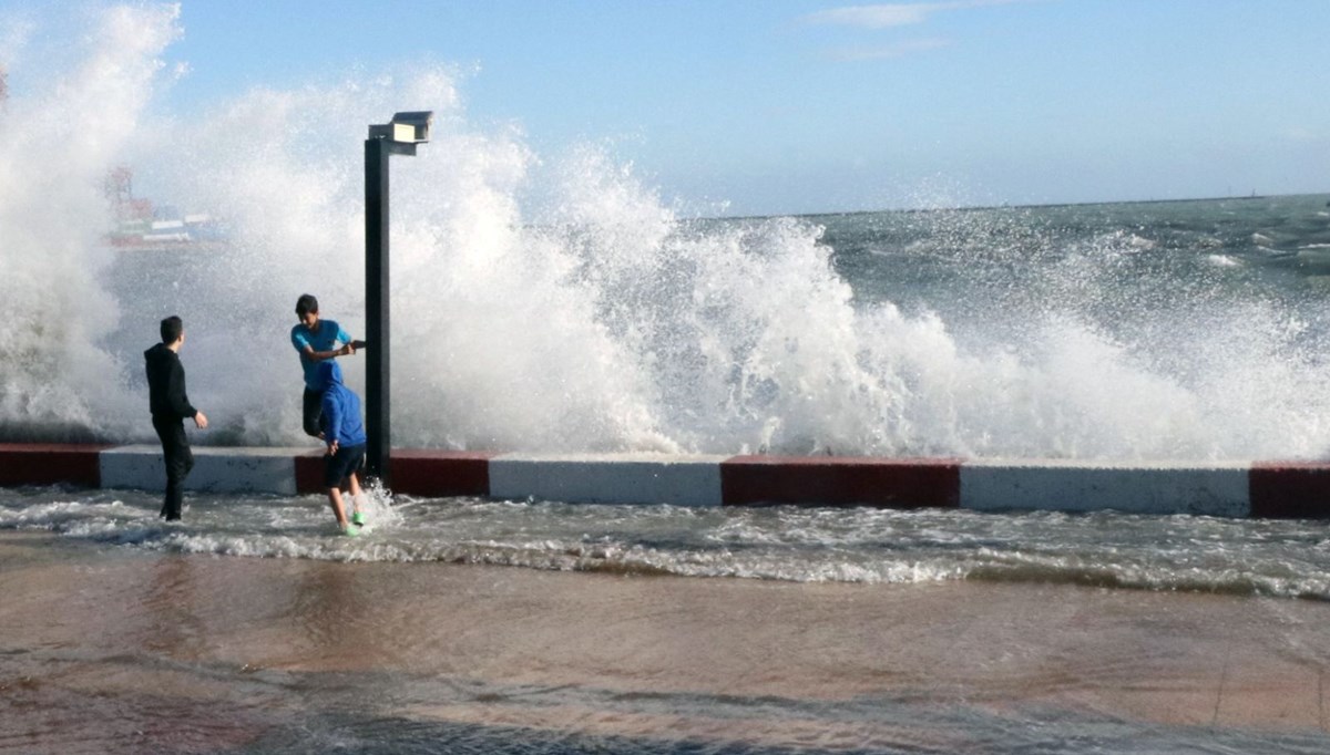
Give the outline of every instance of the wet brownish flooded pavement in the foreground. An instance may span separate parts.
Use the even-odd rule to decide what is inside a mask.
[[[1330,747],[1322,602],[180,556],[21,533],[0,536],[0,751]]]

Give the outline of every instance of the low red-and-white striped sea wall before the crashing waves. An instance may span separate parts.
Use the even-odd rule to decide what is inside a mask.
[[[322,449],[194,449],[188,488],[319,493]],[[1146,514],[1330,517],[1330,464],[866,459],[834,456],[528,455],[395,451],[396,493],[685,506],[1116,509]],[[0,444],[0,485],[160,490],[154,445]]]

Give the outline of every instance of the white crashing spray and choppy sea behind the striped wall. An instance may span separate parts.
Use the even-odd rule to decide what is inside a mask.
[[[1330,445],[1314,411],[1330,405],[1317,283],[1277,267],[1325,243],[1323,219],[1260,241],[1257,221],[1220,206],[1188,227],[1148,206],[685,219],[605,149],[536,156],[516,130],[471,126],[447,68],[162,114],[178,11],[86,23],[49,80],[23,45],[0,52],[7,440],[150,439],[138,355],[180,314],[190,395],[214,424],[200,441],[302,443],[291,307],[314,292],[363,334],[364,128],[434,109],[434,141],[394,162],[399,447],[1245,459]],[[222,218],[226,242],[112,250],[101,187],[122,163]],[[343,367],[363,385],[359,359]]]

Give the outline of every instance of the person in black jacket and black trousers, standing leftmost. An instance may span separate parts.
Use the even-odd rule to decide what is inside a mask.
[[[207,416],[189,403],[185,393],[185,367],[180,363],[180,347],[185,346],[185,324],[172,315],[162,320],[162,342],[144,352],[148,363],[148,401],[153,412],[153,429],[162,441],[166,459],[166,501],[161,516],[178,521],[185,501],[185,477],[194,468],[194,455],[185,435],[185,417],[192,417],[198,429],[207,428]]]

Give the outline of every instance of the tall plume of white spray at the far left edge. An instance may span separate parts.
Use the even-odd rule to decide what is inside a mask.
[[[7,428],[80,435],[124,424],[121,364],[93,347],[120,306],[97,276],[110,217],[100,186],[152,93],[156,58],[177,36],[176,9],[112,8],[84,58],[0,102],[0,417]],[[8,24],[7,24],[8,25]],[[19,39],[4,35],[5,62]],[[33,61],[36,62],[36,61]]]

